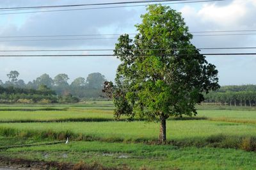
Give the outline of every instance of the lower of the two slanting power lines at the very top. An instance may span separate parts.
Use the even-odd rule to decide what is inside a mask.
[[[226,0],[205,0],[205,1],[189,1],[189,2],[179,2],[179,3],[161,3],[161,4],[206,3],[206,2],[215,2],[215,1],[226,1]],[[126,6],[104,6],[104,7],[95,7],[95,8],[76,8],[76,9],[66,9],[66,10],[44,10],[44,11],[33,11],[33,12],[13,12],[13,13],[0,13],[0,15],[22,14],[22,13],[44,13],[44,12],[67,12],[67,11],[77,11],[77,10],[99,10],[99,9],[108,9],[108,8],[127,8],[127,7],[135,7],[135,6],[148,6],[148,4],[126,5]]]

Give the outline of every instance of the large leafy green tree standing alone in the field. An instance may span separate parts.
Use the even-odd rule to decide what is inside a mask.
[[[106,82],[104,91],[112,93],[115,118],[159,120],[159,141],[165,143],[166,119],[196,115],[203,93],[219,88],[218,71],[190,42],[193,36],[180,13],[161,5],[150,5],[147,11],[134,40],[129,35],[118,38],[116,84]]]

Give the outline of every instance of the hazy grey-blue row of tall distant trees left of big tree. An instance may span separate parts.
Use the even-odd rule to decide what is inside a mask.
[[[37,77],[33,81],[29,81],[27,84],[22,80],[18,79],[19,72],[11,71],[7,74],[8,81],[3,82],[0,80],[0,86],[8,88],[13,86],[18,89],[38,89],[44,85],[52,91],[56,92],[56,95],[71,94],[79,98],[100,98],[102,97],[102,86],[106,81],[105,76],[101,73],[90,73],[85,79],[84,77],[78,77],[74,81],[68,84],[68,75],[60,73],[53,79],[46,73]]]

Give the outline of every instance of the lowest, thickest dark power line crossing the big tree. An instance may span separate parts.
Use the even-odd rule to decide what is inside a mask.
[[[196,54],[177,54],[178,56],[194,56]],[[198,54],[204,56],[244,56],[244,55],[256,55],[256,52],[252,53],[204,53]],[[120,56],[115,54],[52,54],[52,55],[0,55],[0,57],[113,57]],[[134,56],[152,56],[152,55],[134,55]],[[166,56],[166,55],[162,55]]]

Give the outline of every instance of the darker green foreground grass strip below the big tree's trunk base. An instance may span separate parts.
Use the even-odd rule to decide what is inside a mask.
[[[252,169],[256,155],[233,149],[176,148],[146,144],[70,142],[49,146],[10,148],[0,155],[38,160],[87,163],[108,167],[127,165],[132,169]]]

